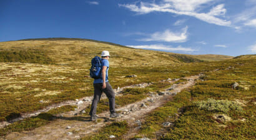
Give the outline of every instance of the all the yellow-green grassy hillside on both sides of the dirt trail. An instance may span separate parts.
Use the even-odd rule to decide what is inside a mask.
[[[176,96],[174,103],[167,103],[156,112],[145,116],[145,123],[138,132],[138,137],[157,138],[155,132],[161,129],[161,124],[164,123],[162,121],[169,119],[175,121],[175,127],[168,129],[165,137],[157,139],[242,139],[243,135],[247,139],[255,137],[255,133],[250,132],[252,126],[255,126],[252,114],[255,113],[256,55],[244,55],[218,62],[202,62],[201,60],[206,57],[196,58],[194,55],[132,49],[109,42],[84,39],[29,39],[0,42],[0,121],[7,121],[20,116],[21,113],[40,110],[62,101],[91,96],[93,79],[88,77],[91,58],[101,55],[102,50],[109,50],[111,53],[109,78],[113,88],[154,82],[154,85],[142,90],[142,93],[159,91],[168,86],[168,82],[161,82],[167,78],[182,78],[205,73],[192,90]],[[137,77],[126,78],[126,75],[137,75]],[[240,86],[233,90],[234,82],[239,83]],[[126,95],[124,99],[117,98],[119,100],[117,103],[126,104],[126,101],[132,103],[145,97],[143,94]],[[243,107],[242,112],[200,110],[196,101],[207,101],[209,98],[240,100],[247,106]],[[72,106],[67,108],[73,109]],[[100,108],[101,106],[99,110]],[[169,118],[174,114],[165,114],[166,110],[169,113],[177,113],[177,108],[185,108],[184,116],[179,119]],[[102,108],[104,109],[106,105]],[[248,121],[216,123],[212,119],[214,113],[227,113],[234,120],[245,118]],[[49,114],[48,116],[40,114],[36,118],[26,119],[8,128],[0,129],[0,135],[50,123],[53,116]],[[46,119],[42,121],[45,117]],[[215,131],[220,124],[227,127]],[[123,126],[130,127],[127,124]],[[209,133],[204,133],[205,129]],[[242,132],[239,132],[239,129],[242,129]],[[124,133],[125,131],[122,131],[122,134]]]

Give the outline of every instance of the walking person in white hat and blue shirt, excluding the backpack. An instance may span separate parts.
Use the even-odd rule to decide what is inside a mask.
[[[109,51],[104,50],[101,54],[101,78],[94,78],[94,98],[92,100],[92,106],[91,106],[91,120],[96,120],[96,110],[97,110],[97,104],[99,103],[99,100],[101,99],[102,91],[107,95],[107,98],[109,98],[109,111],[111,112],[110,117],[116,118],[119,116],[119,114],[116,113],[115,110],[115,93],[109,84],[109,77],[108,77],[108,70],[109,70]]]

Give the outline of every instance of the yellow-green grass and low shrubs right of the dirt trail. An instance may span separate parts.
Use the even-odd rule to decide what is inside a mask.
[[[174,128],[161,139],[255,139],[255,59],[232,61],[239,65],[205,73],[206,81],[192,89],[191,97],[196,102],[187,106]],[[232,89],[234,82],[249,89]],[[207,102],[207,106],[199,106]],[[218,121],[214,114],[226,114],[232,121]]]

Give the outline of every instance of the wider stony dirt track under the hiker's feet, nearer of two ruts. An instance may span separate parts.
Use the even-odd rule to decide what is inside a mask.
[[[163,91],[162,95],[152,94],[144,100],[118,108],[117,111],[121,111],[120,118],[109,119],[109,111],[106,111],[98,114],[100,122],[96,123],[90,121],[89,116],[74,116],[72,114],[74,112],[66,113],[64,116],[57,117],[56,121],[46,126],[41,126],[31,131],[22,131],[21,133],[10,133],[4,139],[79,139],[96,132],[107,124],[108,121],[126,120],[129,125],[135,124],[135,120],[142,118],[145,114],[162,106],[168,98],[194,85],[195,79],[199,78],[199,75],[185,78],[187,78],[187,82],[172,85]],[[91,101],[88,102],[91,103]],[[67,129],[67,126],[70,127]]]

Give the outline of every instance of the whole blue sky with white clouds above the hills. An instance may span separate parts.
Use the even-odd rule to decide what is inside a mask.
[[[0,42],[47,37],[180,54],[256,54],[256,0],[0,1]]]

